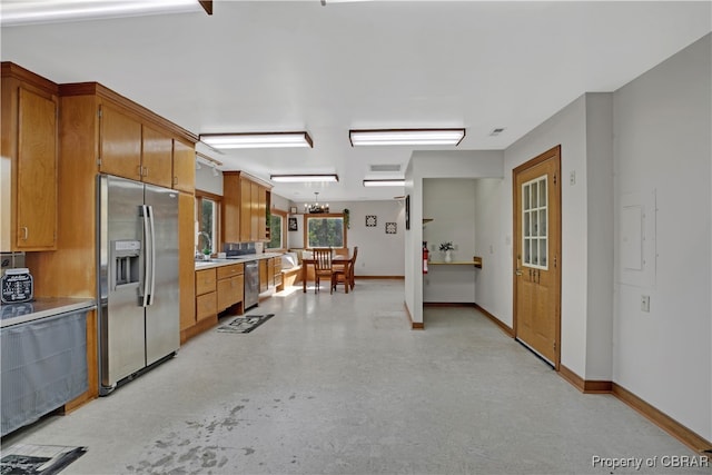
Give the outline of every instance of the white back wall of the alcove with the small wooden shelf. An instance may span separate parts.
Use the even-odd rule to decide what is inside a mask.
[[[423,180],[423,225],[431,260],[443,261],[441,243],[452,241],[453,260],[473,260],[475,255],[475,182],[473,178],[426,178]],[[475,301],[474,266],[432,265],[423,277],[423,301]]]

